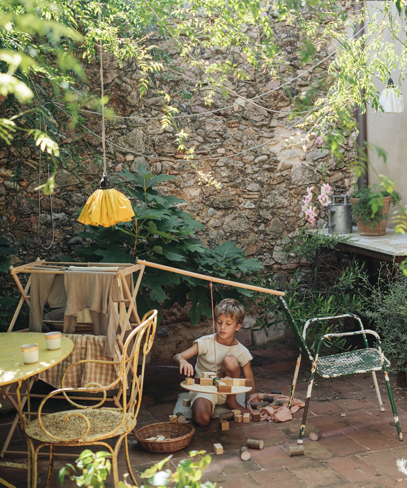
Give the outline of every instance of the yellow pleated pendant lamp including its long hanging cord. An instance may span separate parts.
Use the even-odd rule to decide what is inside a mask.
[[[99,26],[101,26],[99,2]],[[102,225],[110,227],[119,222],[129,222],[134,217],[131,203],[123,193],[110,185],[106,174],[106,147],[105,147],[105,101],[103,93],[103,54],[102,42],[100,46],[100,85],[102,95],[102,147],[103,147],[103,178],[99,190],[90,195],[78,218],[81,224]]]

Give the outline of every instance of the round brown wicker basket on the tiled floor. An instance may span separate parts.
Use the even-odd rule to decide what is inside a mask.
[[[195,429],[190,424],[178,422],[160,422],[141,427],[133,431],[133,436],[145,451],[150,452],[175,452],[187,447],[191,442]],[[165,435],[165,441],[147,441],[149,437]]]

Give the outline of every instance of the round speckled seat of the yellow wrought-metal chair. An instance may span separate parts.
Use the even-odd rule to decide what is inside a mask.
[[[68,417],[67,422],[65,422],[64,418],[66,415],[72,413],[85,415],[90,423],[89,432],[86,437],[82,437],[80,440],[69,441],[69,439],[79,437],[86,432],[86,421],[79,415],[71,415]],[[80,410],[65,410],[63,412],[49,413],[41,417],[43,426],[48,432],[56,437],[64,438],[64,441],[58,441],[49,437],[41,428],[38,419],[28,424],[25,428],[25,434],[31,439],[46,443],[50,442],[52,444],[86,444],[89,441],[107,439],[130,432],[135,427],[136,420],[132,419],[128,414],[123,426],[113,435],[111,434],[112,430],[122,422],[122,416],[122,412],[113,409],[85,408]],[[129,422],[128,425],[126,425],[127,422]]]

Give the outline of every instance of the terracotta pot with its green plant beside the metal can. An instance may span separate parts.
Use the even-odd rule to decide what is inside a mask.
[[[350,194],[351,212],[359,233],[364,236],[384,236],[390,203],[396,205],[400,199],[397,191],[390,194],[378,185],[354,190]]]

